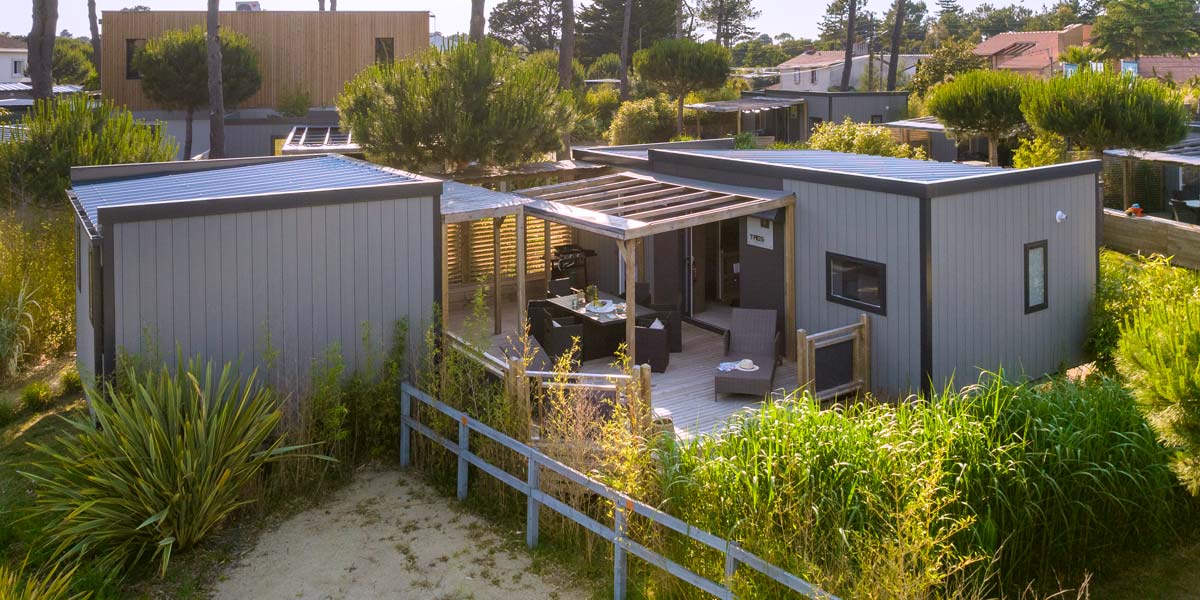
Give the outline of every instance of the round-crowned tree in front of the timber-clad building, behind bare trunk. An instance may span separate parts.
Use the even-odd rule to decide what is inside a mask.
[[[151,102],[167,109],[185,110],[187,128],[184,155],[192,154],[192,115],[209,103],[208,41],[197,25],[186,31],[172,30],[149,40],[133,55],[133,68],[142,76],[142,91]],[[221,30],[221,90],[227,108],[253,96],[263,85],[258,50],[250,38]]]

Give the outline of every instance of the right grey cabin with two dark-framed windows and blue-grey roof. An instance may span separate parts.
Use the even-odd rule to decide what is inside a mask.
[[[1001,169],[670,144],[576,156],[791,192],[796,326],[827,331],[868,313],[877,391],[966,385],[1001,368],[1036,378],[1084,358],[1099,161]],[[845,296],[850,280],[870,281],[877,298]]]

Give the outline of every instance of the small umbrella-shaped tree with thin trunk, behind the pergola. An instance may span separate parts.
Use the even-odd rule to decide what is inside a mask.
[[[683,102],[689,92],[725,85],[730,50],[715,42],[664,40],[634,55],[637,77],[676,97],[676,126],[683,134]]]

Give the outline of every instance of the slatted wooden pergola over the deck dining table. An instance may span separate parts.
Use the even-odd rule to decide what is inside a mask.
[[[516,193],[530,199],[521,205],[521,210],[546,221],[547,227],[550,222],[556,222],[614,240],[625,263],[626,299],[636,298],[637,248],[643,238],[782,209],[786,296],[784,331],[790,340],[785,347],[794,346],[796,196],[791,192],[697,181],[658,173],[626,172],[533,187]],[[523,300],[522,296],[521,301]],[[626,352],[635,356],[635,302],[629,302],[626,311]]]

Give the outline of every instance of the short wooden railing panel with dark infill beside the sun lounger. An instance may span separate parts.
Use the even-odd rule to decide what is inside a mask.
[[[851,344],[851,376],[848,382],[817,389],[817,353],[841,343]],[[817,400],[828,400],[854,391],[871,390],[871,320],[859,314],[858,323],[809,335],[796,331],[797,382]]]

